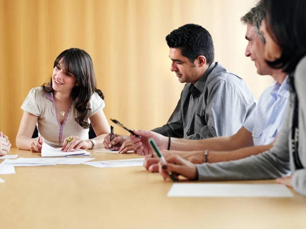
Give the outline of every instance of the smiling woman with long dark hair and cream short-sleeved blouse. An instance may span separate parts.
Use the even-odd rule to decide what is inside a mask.
[[[17,147],[32,152],[40,152],[43,142],[67,152],[102,147],[109,132],[103,99],[90,55],[78,48],[63,51],[50,81],[33,88],[21,106]],[[88,139],[90,123],[97,135],[93,139]],[[31,138],[36,124],[38,137]]]

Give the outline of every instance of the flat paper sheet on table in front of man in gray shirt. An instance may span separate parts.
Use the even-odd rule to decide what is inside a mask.
[[[114,167],[142,166],[143,161],[144,158],[137,158],[137,159],[113,160],[113,161],[93,161],[93,162],[85,162],[83,164],[99,168],[114,168]]]

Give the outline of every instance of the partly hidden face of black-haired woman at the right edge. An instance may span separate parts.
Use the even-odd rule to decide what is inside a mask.
[[[282,49],[271,37],[270,33],[267,30],[267,25],[265,19],[262,21],[260,26],[260,32],[263,34],[266,44],[265,44],[265,59],[267,61],[275,61],[279,59],[282,55]]]

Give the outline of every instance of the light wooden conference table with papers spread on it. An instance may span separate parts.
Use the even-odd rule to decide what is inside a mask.
[[[38,153],[11,149],[19,157]],[[96,161],[140,158],[91,152]],[[2,160],[0,160],[2,162]],[[1,175],[0,228],[306,228],[306,198],[167,197],[144,167],[16,167]],[[231,182],[233,183],[233,182]],[[235,183],[274,183],[247,181]]]

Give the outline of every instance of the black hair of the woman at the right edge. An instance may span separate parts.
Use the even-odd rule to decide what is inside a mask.
[[[306,1],[263,0],[267,31],[281,47],[279,59],[267,62],[272,68],[282,68],[286,73],[295,70],[306,54]]]

